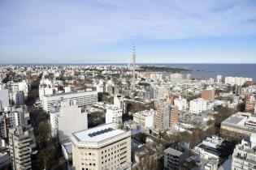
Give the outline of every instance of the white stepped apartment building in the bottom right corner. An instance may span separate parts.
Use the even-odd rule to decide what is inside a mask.
[[[256,135],[244,138],[232,154],[231,170],[256,169]]]

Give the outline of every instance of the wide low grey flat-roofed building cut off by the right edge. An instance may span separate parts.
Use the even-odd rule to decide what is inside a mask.
[[[256,134],[256,117],[251,113],[236,113],[221,123],[221,130],[235,134]]]

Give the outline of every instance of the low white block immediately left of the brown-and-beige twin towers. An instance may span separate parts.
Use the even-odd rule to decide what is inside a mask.
[[[154,109],[133,113],[133,121],[145,128],[153,128]]]

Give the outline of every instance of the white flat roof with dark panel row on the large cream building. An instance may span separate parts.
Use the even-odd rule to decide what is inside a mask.
[[[75,132],[73,136],[80,142],[101,142],[126,132],[124,130],[115,130],[113,126],[113,123],[99,125],[89,130]]]

